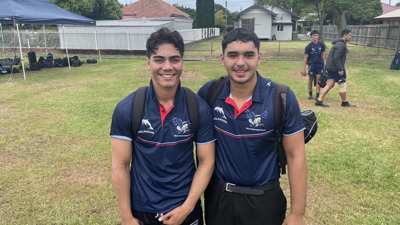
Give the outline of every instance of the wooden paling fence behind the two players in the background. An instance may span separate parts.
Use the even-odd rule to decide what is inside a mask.
[[[319,30],[319,28],[319,26],[312,26],[311,30]],[[400,48],[400,25],[350,25],[347,28],[351,30],[350,44],[395,49],[396,51]],[[328,40],[339,36],[336,26],[323,26],[322,34],[324,39]]]

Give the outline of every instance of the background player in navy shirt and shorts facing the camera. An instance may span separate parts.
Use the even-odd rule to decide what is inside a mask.
[[[318,80],[320,80],[321,74],[324,74],[325,70],[325,45],[318,42],[318,30],[311,31],[310,36],[312,42],[304,49],[304,61],[301,74],[306,76],[306,64],[308,64],[308,99],[313,99],[312,81],[314,78],[316,78],[315,100],[317,100],[321,89],[321,86],[318,84]]]

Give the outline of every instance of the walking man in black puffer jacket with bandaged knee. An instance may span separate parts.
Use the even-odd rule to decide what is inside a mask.
[[[351,38],[351,31],[349,29],[344,29],[340,32],[340,38],[336,38],[332,41],[333,47],[329,52],[328,59],[326,60],[326,70],[328,70],[328,82],[320,96],[316,99],[315,105],[322,107],[329,107],[324,104],[322,100],[328,91],[333,88],[335,82],[338,83],[339,86],[339,94],[340,98],[342,98],[343,107],[356,107],[354,104],[350,104],[347,101],[346,97],[346,80],[347,74],[346,69],[344,68],[344,63],[346,62],[347,56],[347,47],[346,42],[348,42]]]

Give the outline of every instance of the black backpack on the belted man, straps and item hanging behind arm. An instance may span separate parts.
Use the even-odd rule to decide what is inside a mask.
[[[211,83],[210,87],[206,92],[204,100],[212,107],[215,100],[218,98],[224,84],[228,80],[228,76],[222,76],[218,80]],[[282,175],[286,173],[286,153],[282,144],[282,127],[286,115],[287,101],[286,97],[290,91],[289,86],[285,84],[276,84],[273,102],[273,116],[274,116],[274,131],[275,131],[275,143],[272,151],[277,152],[279,158],[279,167]],[[317,131],[317,118],[312,110],[301,111],[302,120],[306,129],[304,130],[304,143],[310,141]]]

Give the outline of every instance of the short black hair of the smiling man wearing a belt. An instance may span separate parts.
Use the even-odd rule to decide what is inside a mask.
[[[260,40],[258,40],[257,35],[246,28],[237,28],[224,34],[222,40],[222,54],[225,54],[226,46],[234,41],[241,41],[244,43],[252,41],[257,48],[257,52],[260,52]]]

